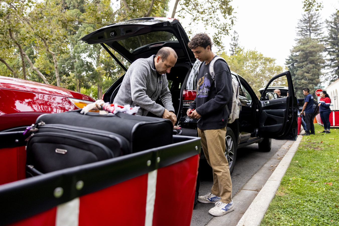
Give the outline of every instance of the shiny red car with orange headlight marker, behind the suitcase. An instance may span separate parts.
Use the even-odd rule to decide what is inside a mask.
[[[95,101],[69,89],[3,76],[0,97],[0,131],[26,127],[41,114],[75,110]]]

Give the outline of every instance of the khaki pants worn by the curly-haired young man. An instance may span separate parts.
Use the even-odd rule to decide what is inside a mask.
[[[208,164],[213,169],[211,193],[221,197],[221,202],[230,203],[232,199],[232,181],[230,168],[225,157],[226,127],[203,130],[198,128],[201,146]]]

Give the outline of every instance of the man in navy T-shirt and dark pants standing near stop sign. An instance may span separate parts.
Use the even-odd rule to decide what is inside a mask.
[[[313,124],[313,96],[310,94],[309,88],[303,89],[303,94],[306,96],[304,100],[304,106],[302,107],[302,110],[300,112],[300,115],[304,113],[305,116],[305,122],[306,122],[306,133],[305,135],[308,136],[310,134],[315,135],[314,133],[314,124]],[[311,131],[310,131],[311,130]]]

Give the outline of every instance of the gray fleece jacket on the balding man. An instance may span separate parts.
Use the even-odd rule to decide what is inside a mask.
[[[172,96],[168,89],[166,74],[159,75],[154,65],[154,57],[140,58],[129,66],[113,103],[140,106],[136,115],[146,116],[148,111],[161,117],[165,111],[174,112]],[[163,106],[155,103],[160,95]]]

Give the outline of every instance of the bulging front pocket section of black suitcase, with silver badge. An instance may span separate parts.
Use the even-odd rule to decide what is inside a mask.
[[[114,157],[112,150],[98,141],[59,132],[34,134],[26,148],[28,177]]]

